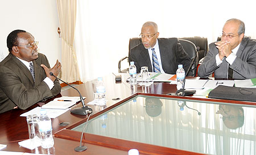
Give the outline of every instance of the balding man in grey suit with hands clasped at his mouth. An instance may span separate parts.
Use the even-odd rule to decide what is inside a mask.
[[[245,24],[229,19],[223,29],[221,41],[209,45],[209,51],[199,66],[200,78],[253,79],[256,78],[256,41],[245,37]]]

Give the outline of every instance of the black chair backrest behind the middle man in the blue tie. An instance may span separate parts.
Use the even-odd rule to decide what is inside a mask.
[[[180,44],[183,46],[183,49],[191,57],[191,61],[192,61],[192,59],[196,56],[196,46],[195,46],[195,44],[193,44],[193,42],[191,42],[191,41],[183,40],[183,39],[179,39],[179,41],[180,41]],[[129,41],[129,55],[130,55],[130,50],[132,48],[134,48],[135,46],[141,44],[141,42],[142,42],[141,38],[138,38],[138,37],[137,38],[130,38],[130,41]],[[131,62],[131,58],[129,58],[129,63],[130,62]],[[198,55],[197,55],[196,61],[191,67],[191,72],[190,72],[190,74],[188,74],[189,76],[196,76],[196,68],[197,68],[198,62],[199,62],[199,59],[198,59]]]

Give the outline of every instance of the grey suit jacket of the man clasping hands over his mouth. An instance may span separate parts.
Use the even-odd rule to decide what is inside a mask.
[[[214,78],[228,78],[228,62],[226,57],[222,63],[217,66],[216,55],[218,49],[214,42],[209,45],[209,51],[204,58],[203,63],[199,66],[198,75],[201,78],[207,78],[214,72]],[[237,58],[234,60],[230,68],[233,71],[234,79],[253,79],[256,78],[256,41],[248,37],[244,37],[237,50]]]

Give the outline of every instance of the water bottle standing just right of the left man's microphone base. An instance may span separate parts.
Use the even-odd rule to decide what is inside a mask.
[[[98,95],[97,98],[97,105],[106,105],[106,90],[104,82],[102,78],[98,78],[98,83],[96,85],[96,93]]]

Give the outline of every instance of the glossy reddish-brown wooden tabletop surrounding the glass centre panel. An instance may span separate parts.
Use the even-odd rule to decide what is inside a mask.
[[[127,100],[127,98],[131,98],[132,94],[135,93],[146,93],[152,96],[163,96],[166,97],[166,94],[169,93],[176,93],[176,85],[172,85],[169,83],[154,83],[149,87],[140,86],[140,85],[130,85],[126,82],[128,78],[127,74],[122,74],[122,81],[115,82],[114,74],[110,74],[108,76],[104,76],[103,81],[106,87],[106,99],[107,104],[106,107],[111,107],[115,104],[120,103],[122,100]],[[87,97],[85,100],[85,104],[88,102],[93,101],[93,83],[96,80],[92,80],[86,82],[84,84],[77,85],[76,88],[79,89],[82,96]],[[79,96],[79,93],[75,89],[67,89],[61,92],[62,96]],[[255,102],[240,102],[240,101],[232,101],[232,100],[217,100],[217,99],[210,99],[205,97],[181,97],[181,96],[174,96],[175,98],[193,98],[193,100],[207,100],[207,101],[218,101],[218,102],[230,102],[230,103],[240,103],[240,104],[249,104],[255,105]],[[119,98],[119,100],[116,100]],[[35,104],[28,108],[27,110],[20,110],[20,109],[13,109],[7,111],[5,113],[0,114],[0,144],[8,144],[8,147],[4,150],[12,150],[12,151],[19,151],[19,152],[31,152],[35,153],[36,150],[28,150],[18,146],[18,141],[28,139],[28,127],[26,122],[26,117],[19,117],[20,114],[23,114],[34,107],[38,106]],[[81,104],[77,104],[72,107],[81,107]],[[98,106],[90,105],[92,107],[94,113],[101,113],[101,110]],[[52,119],[52,127],[53,127],[53,134],[58,131],[61,131],[65,128],[70,128],[77,124],[78,122],[85,122],[86,116],[84,115],[75,115],[71,114],[70,111],[60,115],[59,117]],[[59,126],[62,122],[69,122],[68,126],[62,127]],[[77,134],[79,135],[79,134]],[[76,136],[77,136],[76,135]],[[51,150],[52,154],[77,154],[77,152],[73,151],[73,148],[79,145],[79,141],[77,140],[66,140],[63,138],[55,137],[55,149]],[[109,152],[110,154],[127,154],[127,150],[117,150],[102,147],[99,145],[88,144],[92,149],[86,150],[85,154],[106,154]],[[70,150],[70,152],[69,152]],[[44,150],[40,149],[39,153],[46,153]],[[47,154],[47,153],[46,153]],[[108,153],[107,153],[108,154]]]

